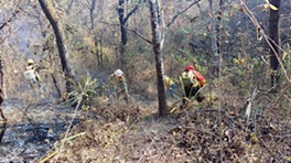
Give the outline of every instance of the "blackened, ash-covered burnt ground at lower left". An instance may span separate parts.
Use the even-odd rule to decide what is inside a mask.
[[[74,113],[71,107],[46,99],[6,99],[2,109],[8,121],[0,127],[0,162],[37,162],[66,131]],[[73,124],[79,121],[78,113]]]

